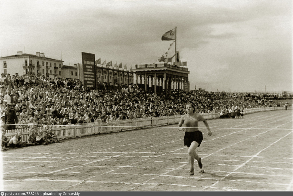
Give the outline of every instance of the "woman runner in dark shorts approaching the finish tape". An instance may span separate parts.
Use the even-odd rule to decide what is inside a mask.
[[[197,160],[198,166],[201,169],[200,173],[203,173],[201,158],[196,153],[196,148],[200,146],[202,142],[202,132],[198,130],[198,121],[202,121],[207,127],[209,136],[212,135],[212,132],[209,129],[207,120],[199,114],[195,114],[195,107],[192,103],[186,104],[186,114],[182,115],[178,124],[179,131],[185,131],[184,135],[184,146],[188,147],[188,160],[190,163],[189,175],[194,175],[194,159]],[[185,125],[188,128],[182,128],[181,126]]]

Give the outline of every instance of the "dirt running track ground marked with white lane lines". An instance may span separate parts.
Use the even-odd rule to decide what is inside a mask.
[[[1,153],[4,191],[292,191],[292,110],[208,120],[189,176],[177,125]],[[200,122],[200,127],[205,127]]]

